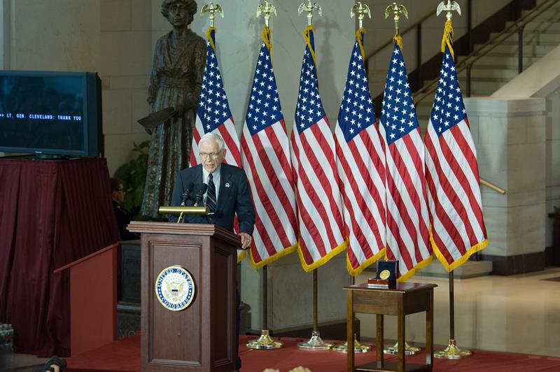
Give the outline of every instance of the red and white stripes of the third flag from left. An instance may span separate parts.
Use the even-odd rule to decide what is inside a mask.
[[[300,259],[305,271],[325,264],[346,249],[338,185],[335,140],[327,117],[291,135],[297,186]]]

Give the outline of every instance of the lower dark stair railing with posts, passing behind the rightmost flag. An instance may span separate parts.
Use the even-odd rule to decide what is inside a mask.
[[[496,48],[498,45],[503,43],[507,38],[515,34],[518,34],[518,54],[519,58],[517,59],[517,70],[518,73],[523,72],[523,32],[525,29],[526,24],[535,20],[536,17],[541,15],[551,8],[554,4],[558,3],[560,0],[547,0],[541,3],[539,6],[536,6],[531,10],[529,13],[521,17],[519,20],[513,22],[510,27],[506,27],[503,31],[498,33],[496,36],[491,38],[489,41],[484,43],[480,48],[471,52],[468,56],[463,59],[463,61],[456,64],[456,72],[461,73],[462,71],[467,71],[467,86],[465,89],[465,95],[470,96],[470,86],[471,86],[471,77],[470,72],[472,69],[472,65],[475,64],[479,59],[486,56],[491,50]],[[435,92],[437,89],[437,83],[439,82],[440,78],[437,77],[426,85],[424,85],[420,90],[414,92],[414,104],[417,105],[420,101],[425,99],[427,96],[430,96]]]

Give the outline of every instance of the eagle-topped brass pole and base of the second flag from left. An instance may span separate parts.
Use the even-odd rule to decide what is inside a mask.
[[[265,16],[265,26],[262,30],[262,41],[265,42],[267,47],[269,48],[271,58],[272,58],[272,40],[270,39],[270,29],[269,29],[269,20],[270,15],[274,13],[276,15],[276,8],[272,3],[265,1],[264,3],[260,3],[257,7],[257,17],[260,17],[261,14]],[[272,62],[272,61],[271,61]],[[274,341],[269,336],[268,331],[268,270],[267,265],[262,266],[262,330],[260,331],[260,337],[256,340],[251,340],[246,343],[247,348],[250,349],[258,349],[258,350],[271,350],[271,349],[279,349],[284,347],[284,343],[282,341]]]

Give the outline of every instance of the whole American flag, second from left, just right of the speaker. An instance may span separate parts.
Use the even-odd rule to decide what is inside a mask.
[[[255,68],[241,155],[255,206],[251,264],[259,268],[293,252],[297,243],[290,143],[266,43]]]

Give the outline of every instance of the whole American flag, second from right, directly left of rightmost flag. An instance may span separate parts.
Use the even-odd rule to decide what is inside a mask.
[[[402,52],[394,44],[379,125],[386,142],[387,258],[407,280],[432,259],[424,145]]]

